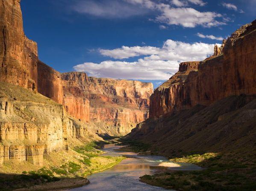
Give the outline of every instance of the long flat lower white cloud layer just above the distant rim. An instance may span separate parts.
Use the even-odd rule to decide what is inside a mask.
[[[177,71],[175,61],[139,59],[137,62],[104,61],[100,64],[83,63],[74,66],[76,71],[85,71],[94,77],[135,80],[167,80]]]

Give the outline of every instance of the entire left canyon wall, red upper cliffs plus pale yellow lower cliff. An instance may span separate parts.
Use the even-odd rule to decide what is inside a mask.
[[[38,60],[36,43],[24,35],[20,0],[0,1],[0,30],[0,164],[42,165],[43,154],[68,150],[75,139],[100,139],[94,124],[73,118],[88,120],[88,100],[64,96],[61,74]]]

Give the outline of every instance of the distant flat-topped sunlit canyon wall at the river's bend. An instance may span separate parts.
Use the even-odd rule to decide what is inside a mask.
[[[89,100],[92,122],[114,126],[119,135],[129,133],[148,117],[151,83],[94,78],[81,72],[62,74],[62,83],[65,96]]]

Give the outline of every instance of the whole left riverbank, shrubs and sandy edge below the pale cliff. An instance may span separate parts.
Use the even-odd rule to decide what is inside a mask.
[[[7,162],[0,166],[1,191],[60,190],[86,185],[86,175],[103,171],[125,157],[101,156],[96,143],[44,156],[44,166]],[[18,190],[17,190],[18,189]]]

